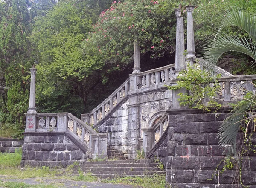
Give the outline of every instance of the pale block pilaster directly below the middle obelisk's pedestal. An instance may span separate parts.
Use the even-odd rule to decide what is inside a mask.
[[[128,158],[135,159],[140,139],[140,104],[137,94],[129,95],[128,107]]]

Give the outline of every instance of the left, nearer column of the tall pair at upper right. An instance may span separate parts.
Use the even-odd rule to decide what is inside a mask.
[[[185,44],[184,44],[184,25],[183,17],[181,17],[180,8],[174,9],[177,18],[176,26],[176,52],[175,52],[175,76],[177,78],[179,72],[186,68],[185,66]]]

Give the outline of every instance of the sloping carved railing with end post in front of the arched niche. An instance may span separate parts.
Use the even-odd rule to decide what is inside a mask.
[[[168,129],[168,114],[164,113],[159,121],[154,124],[153,127],[144,128],[143,131],[143,150],[145,155],[148,156],[148,153],[151,153],[152,148],[161,140],[161,137],[164,135]]]

